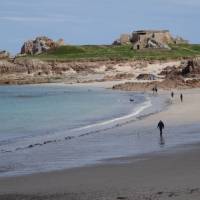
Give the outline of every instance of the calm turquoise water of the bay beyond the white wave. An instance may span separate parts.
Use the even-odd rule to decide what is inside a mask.
[[[135,94],[70,86],[0,87],[0,144],[16,138],[55,134],[131,113],[144,101]]]

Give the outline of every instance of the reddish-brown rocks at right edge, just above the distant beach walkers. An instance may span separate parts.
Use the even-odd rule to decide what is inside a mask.
[[[113,89],[127,91],[151,91],[153,87],[159,89],[198,88],[200,87],[200,58],[184,60],[180,66],[168,66],[159,74],[163,79],[149,82],[127,82],[113,86]],[[148,79],[149,74],[140,74],[137,79]]]

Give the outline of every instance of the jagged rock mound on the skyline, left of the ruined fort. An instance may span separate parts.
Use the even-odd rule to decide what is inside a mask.
[[[21,48],[21,54],[41,54],[61,45],[64,45],[63,39],[60,39],[57,42],[55,42],[46,36],[37,37],[35,40],[28,40],[23,44]]]

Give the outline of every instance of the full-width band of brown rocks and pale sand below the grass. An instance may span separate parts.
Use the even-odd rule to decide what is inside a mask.
[[[191,79],[194,74],[195,80]],[[134,81],[114,87],[125,90],[151,90],[155,85],[164,89],[197,87],[200,82],[200,61],[196,58],[175,64],[147,61],[58,62],[30,58],[0,60],[0,84],[85,83],[110,80]]]

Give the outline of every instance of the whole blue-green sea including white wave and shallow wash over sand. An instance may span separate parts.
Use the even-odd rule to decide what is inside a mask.
[[[169,104],[165,96],[92,86],[0,86],[0,176],[82,167],[162,149],[151,139],[155,129],[133,123]]]

